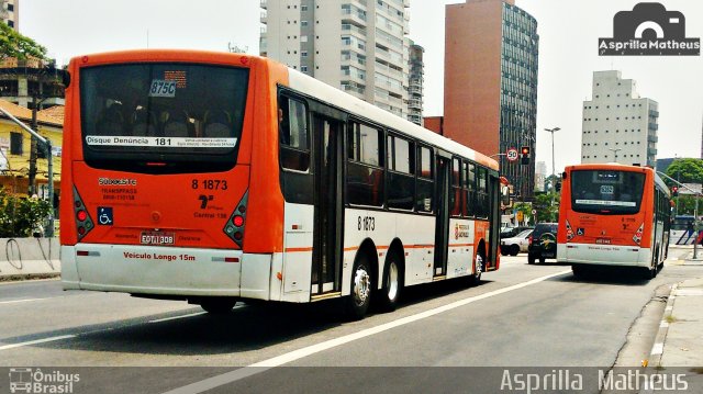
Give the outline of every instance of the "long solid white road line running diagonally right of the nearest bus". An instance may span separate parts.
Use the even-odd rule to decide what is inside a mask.
[[[504,294],[507,292],[512,292],[515,290],[520,290],[539,282],[544,282],[548,279],[555,278],[555,277],[560,277],[567,273],[571,273],[571,270],[568,271],[561,271],[558,273],[553,273],[546,277],[542,277],[542,278],[537,278],[537,279],[533,279],[531,281],[524,282],[524,283],[520,283],[520,284],[514,284],[512,286],[507,286],[507,288],[503,288],[503,289],[499,289],[499,290],[494,290],[492,292],[488,292],[488,293],[483,293],[477,296],[472,296],[469,299],[464,299],[464,300],[459,300],[456,302],[453,302],[450,304],[447,305],[443,305],[439,307],[436,307],[434,309],[429,309],[429,311],[425,311],[425,312],[421,312],[419,314],[415,315],[411,315],[411,316],[406,316],[403,318],[400,318],[398,320],[393,320],[393,322],[389,322],[376,327],[371,327],[371,328],[367,328],[364,330],[360,330],[358,333],[355,334],[349,334],[349,335],[345,335],[343,337],[339,338],[335,338],[335,339],[331,339],[331,340],[326,340],[324,342],[321,344],[316,344],[316,345],[311,345],[309,347],[302,348],[302,349],[298,349],[298,350],[293,350],[289,353],[284,353],[278,357],[274,357],[271,359],[268,360],[264,360],[260,362],[257,362],[255,364],[248,365],[248,367],[244,367],[227,373],[223,373],[213,378],[209,378],[205,380],[202,380],[200,382],[196,382],[196,383],[191,383],[189,385],[182,386],[182,387],[178,387],[175,390],[171,390],[169,392],[166,392],[164,394],[197,394],[197,393],[202,393],[225,384],[230,384],[232,382],[236,382],[238,380],[242,380],[244,378],[248,378],[252,375],[255,375],[257,373],[261,373],[266,370],[269,370],[274,367],[279,367],[302,358],[305,358],[308,356],[312,356],[314,353],[319,353],[321,351],[327,350],[327,349],[332,349],[334,347],[344,345],[344,344],[348,344],[352,341],[355,341],[357,339],[361,339],[361,338],[366,338],[379,333],[383,333],[387,331],[389,329],[395,328],[395,327],[400,327],[400,326],[404,326],[406,324],[413,323],[413,322],[417,322],[427,317],[432,317],[434,315],[444,313],[444,312],[448,312],[451,309],[456,309],[460,306],[464,305],[468,305],[470,303],[477,302],[477,301],[481,301],[481,300],[486,300],[495,295],[500,295],[500,294]]]

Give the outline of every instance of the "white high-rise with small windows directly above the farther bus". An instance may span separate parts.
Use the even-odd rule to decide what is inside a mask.
[[[583,102],[581,162],[656,166],[659,104],[636,88],[621,71],[593,72],[593,97]]]

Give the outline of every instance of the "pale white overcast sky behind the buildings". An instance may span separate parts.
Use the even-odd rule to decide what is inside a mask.
[[[410,37],[425,48],[425,113],[442,115],[445,4],[411,0]],[[594,70],[621,70],[640,97],[659,102],[658,158],[700,157],[703,130],[703,58],[601,57],[598,38],[613,36],[613,15],[634,0],[516,0],[537,19],[539,87],[537,160],[557,172],[580,162],[582,102],[590,100]],[[687,18],[687,36],[703,37],[703,1],[662,0]],[[23,0],[20,32],[48,49],[59,64],[74,56],[131,48],[227,50],[258,54],[259,0]]]

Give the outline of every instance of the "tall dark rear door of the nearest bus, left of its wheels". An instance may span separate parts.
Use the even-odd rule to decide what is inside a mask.
[[[344,122],[312,114],[315,160],[312,294],[341,291]]]

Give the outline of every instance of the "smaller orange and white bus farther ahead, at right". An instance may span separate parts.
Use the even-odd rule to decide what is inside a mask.
[[[593,266],[656,277],[669,247],[671,198],[654,169],[578,165],[562,173],[557,261],[580,275]]]

